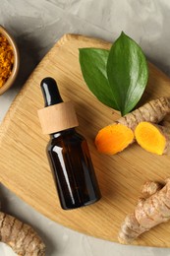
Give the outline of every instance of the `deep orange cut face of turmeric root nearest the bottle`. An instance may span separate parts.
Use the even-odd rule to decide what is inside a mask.
[[[133,131],[123,124],[111,124],[102,128],[95,138],[98,152],[114,155],[127,148],[134,141]]]

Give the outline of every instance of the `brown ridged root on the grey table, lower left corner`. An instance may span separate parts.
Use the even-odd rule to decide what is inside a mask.
[[[44,256],[45,245],[28,224],[0,212],[0,241],[12,247],[19,256]]]

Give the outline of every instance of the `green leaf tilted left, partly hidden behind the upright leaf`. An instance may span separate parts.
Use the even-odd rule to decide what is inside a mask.
[[[102,103],[118,109],[107,79],[106,64],[109,51],[98,48],[81,48],[80,64],[85,83]]]

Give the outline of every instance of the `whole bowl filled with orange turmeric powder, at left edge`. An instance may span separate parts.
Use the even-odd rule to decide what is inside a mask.
[[[0,95],[16,80],[19,71],[19,50],[13,36],[0,26]]]

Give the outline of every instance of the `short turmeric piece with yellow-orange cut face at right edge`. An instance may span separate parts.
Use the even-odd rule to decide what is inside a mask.
[[[135,137],[142,149],[157,154],[170,154],[170,129],[164,126],[141,122],[135,130]]]

